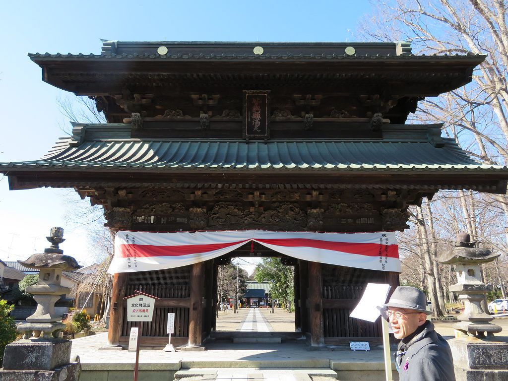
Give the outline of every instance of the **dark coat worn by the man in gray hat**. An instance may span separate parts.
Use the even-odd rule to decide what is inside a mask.
[[[455,381],[450,345],[434,330],[407,349],[402,357],[400,381]]]

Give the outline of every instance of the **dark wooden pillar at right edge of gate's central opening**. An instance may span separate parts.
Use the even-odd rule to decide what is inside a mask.
[[[309,262],[310,345],[325,344],[323,327],[323,276],[321,263]]]

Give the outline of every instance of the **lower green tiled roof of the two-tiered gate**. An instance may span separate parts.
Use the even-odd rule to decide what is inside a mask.
[[[121,139],[61,143],[41,160],[0,163],[0,170],[203,170],[476,172],[506,171],[477,163],[453,139],[393,141],[172,141]]]

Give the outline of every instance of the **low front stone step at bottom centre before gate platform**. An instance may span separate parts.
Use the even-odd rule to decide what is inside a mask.
[[[175,373],[175,381],[331,381],[337,373],[331,369],[259,369],[259,368],[190,368]]]

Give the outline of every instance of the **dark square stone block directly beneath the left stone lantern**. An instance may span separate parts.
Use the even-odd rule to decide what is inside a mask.
[[[71,347],[71,341],[59,338],[14,341],[5,347],[4,370],[53,370],[65,366],[71,360]]]

